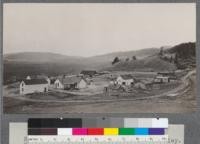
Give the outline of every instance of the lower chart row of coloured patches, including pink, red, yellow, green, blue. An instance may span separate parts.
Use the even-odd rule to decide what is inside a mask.
[[[165,135],[165,128],[29,128],[28,135]]]

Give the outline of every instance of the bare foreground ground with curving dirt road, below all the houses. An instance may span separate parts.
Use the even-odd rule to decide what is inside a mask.
[[[81,97],[73,97],[63,101],[62,97],[48,97],[34,100],[24,97],[4,96],[5,113],[184,113],[196,109],[196,76],[190,76],[189,85],[179,91],[176,96],[160,95],[159,97],[127,98],[127,99],[98,99],[105,96],[96,96],[96,100],[82,102]],[[99,97],[100,96],[100,97]],[[91,96],[84,97],[90,99]],[[94,98],[94,97],[93,97]],[[77,100],[79,99],[79,100]]]

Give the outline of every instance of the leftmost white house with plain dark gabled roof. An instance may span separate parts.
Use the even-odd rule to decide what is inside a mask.
[[[20,83],[20,94],[35,92],[48,92],[48,81],[46,79],[26,79]]]

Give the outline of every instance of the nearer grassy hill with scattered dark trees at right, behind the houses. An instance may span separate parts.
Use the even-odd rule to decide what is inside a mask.
[[[163,48],[163,47],[162,47]],[[150,54],[150,53],[149,53]],[[157,49],[143,59],[124,60],[110,65],[110,71],[173,71],[176,69],[196,67],[195,43],[182,43],[173,47],[163,48],[163,54]],[[136,55],[137,56],[137,55]]]

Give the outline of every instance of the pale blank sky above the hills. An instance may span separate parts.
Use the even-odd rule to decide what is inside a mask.
[[[3,7],[4,54],[89,57],[195,41],[194,3],[7,3]]]

